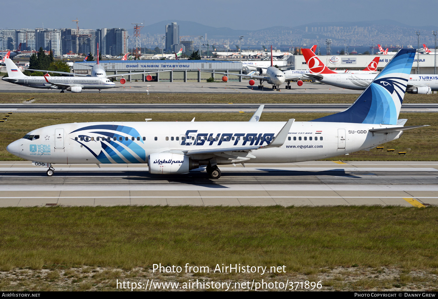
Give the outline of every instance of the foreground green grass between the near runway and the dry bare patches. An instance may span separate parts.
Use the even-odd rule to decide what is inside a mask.
[[[438,268],[438,207],[2,208],[0,271],[154,263]]]

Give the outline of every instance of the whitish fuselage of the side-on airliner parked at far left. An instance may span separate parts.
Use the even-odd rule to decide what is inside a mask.
[[[70,86],[78,86],[82,89],[108,89],[116,86],[113,82],[106,78],[98,77],[74,77],[63,76],[47,77],[49,82],[54,84],[66,84]],[[48,83],[44,76],[20,76],[20,77],[4,77],[3,80],[32,88],[44,88],[44,89],[62,89],[56,85]]]

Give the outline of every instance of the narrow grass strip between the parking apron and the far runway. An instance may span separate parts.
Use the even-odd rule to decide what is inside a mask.
[[[0,93],[0,103],[351,103],[359,94]],[[438,94],[405,94],[403,103],[438,103]]]

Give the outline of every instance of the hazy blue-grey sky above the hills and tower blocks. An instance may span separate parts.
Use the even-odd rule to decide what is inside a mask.
[[[247,30],[294,27],[317,21],[382,19],[425,26],[437,24],[437,3],[436,0],[13,0],[2,1],[0,28],[38,28],[42,23],[44,28],[75,28],[76,23],[71,20],[76,17],[79,28],[85,29],[131,28],[132,22],[150,25],[172,19]]]

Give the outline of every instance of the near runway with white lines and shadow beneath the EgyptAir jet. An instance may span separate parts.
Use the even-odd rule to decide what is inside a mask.
[[[309,161],[220,166],[151,175],[146,165],[0,162],[0,206],[46,205],[438,205],[436,161]]]

